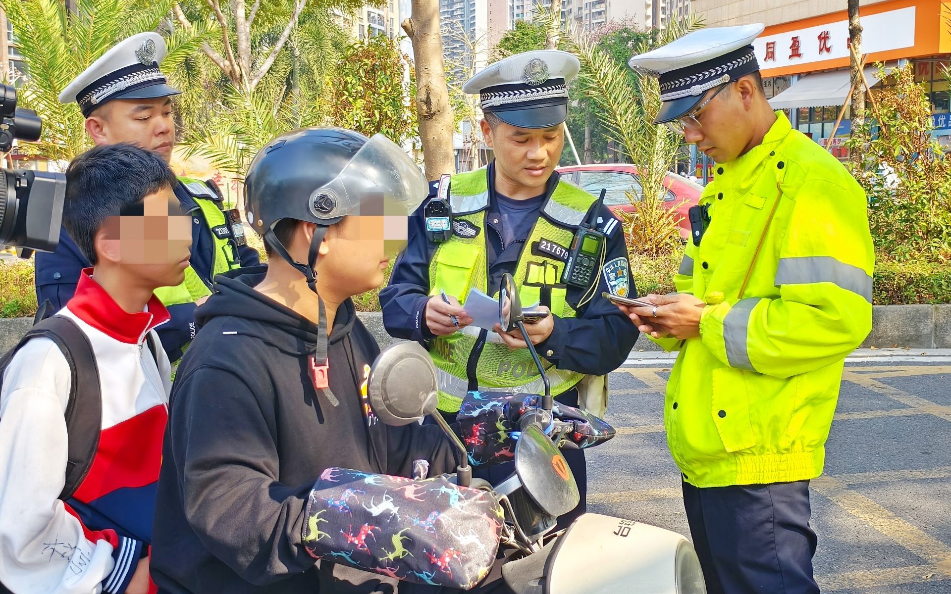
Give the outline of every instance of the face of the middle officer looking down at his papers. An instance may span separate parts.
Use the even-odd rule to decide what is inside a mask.
[[[537,188],[540,194],[552,177],[565,146],[562,125],[519,128],[499,122],[492,128],[482,120],[485,143],[495,151],[495,175],[506,182]]]

